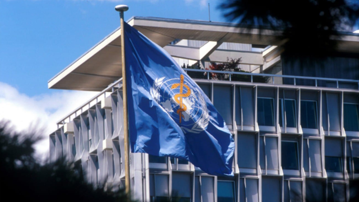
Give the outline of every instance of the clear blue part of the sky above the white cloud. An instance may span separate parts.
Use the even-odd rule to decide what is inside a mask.
[[[132,16],[224,21],[218,1],[11,0],[0,1],[0,81],[29,96],[48,93],[47,81],[116,29],[114,7]]]

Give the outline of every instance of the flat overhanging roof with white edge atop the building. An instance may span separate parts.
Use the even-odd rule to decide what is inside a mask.
[[[234,23],[132,17],[127,21],[164,47],[175,39],[279,45],[280,31],[238,28]],[[101,91],[122,77],[120,28],[48,81],[48,88]],[[346,35],[339,48],[359,52],[359,35]]]

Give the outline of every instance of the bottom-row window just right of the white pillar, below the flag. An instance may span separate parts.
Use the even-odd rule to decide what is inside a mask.
[[[168,201],[168,175],[150,174],[150,202]]]

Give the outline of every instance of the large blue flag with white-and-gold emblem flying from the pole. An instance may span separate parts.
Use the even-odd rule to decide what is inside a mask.
[[[131,151],[233,176],[234,140],[209,98],[162,47],[127,23],[124,31]]]

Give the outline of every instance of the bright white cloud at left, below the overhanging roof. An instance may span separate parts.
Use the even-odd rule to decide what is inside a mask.
[[[10,120],[16,132],[41,130],[44,139],[35,148],[42,159],[48,157],[48,135],[57,129],[56,122],[97,93],[49,90],[47,94],[30,97],[3,82],[0,89],[0,120]]]

